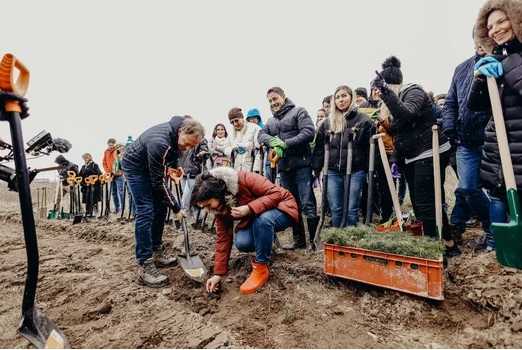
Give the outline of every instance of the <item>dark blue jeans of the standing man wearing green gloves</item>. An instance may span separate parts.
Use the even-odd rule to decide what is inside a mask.
[[[294,196],[300,213],[307,218],[316,218],[317,202],[312,188],[312,168],[302,167],[291,171],[282,171],[279,176],[281,187],[289,190]]]

